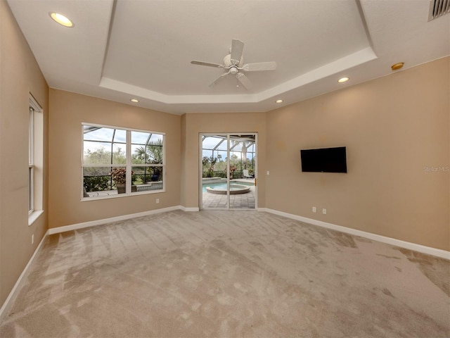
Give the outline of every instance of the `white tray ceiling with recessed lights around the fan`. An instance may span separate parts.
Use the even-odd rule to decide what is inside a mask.
[[[450,54],[450,15],[428,22],[428,0],[8,0],[52,88],[168,113],[269,111]],[[68,16],[75,27],[53,22]],[[224,70],[231,39],[246,73]],[[401,71],[401,70],[397,70]],[[347,76],[349,82],[337,80]],[[281,105],[276,99],[283,99]]]

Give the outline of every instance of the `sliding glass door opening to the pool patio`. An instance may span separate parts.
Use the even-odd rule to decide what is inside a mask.
[[[200,134],[200,208],[254,209],[257,134]]]

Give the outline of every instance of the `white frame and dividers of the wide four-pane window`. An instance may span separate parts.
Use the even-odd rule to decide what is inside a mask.
[[[108,129],[114,129],[114,130],[124,130],[126,132],[126,142],[125,145],[125,156],[126,156],[126,163],[108,163],[108,164],[91,164],[91,163],[84,163],[84,126],[89,127],[96,127],[96,128],[108,128]],[[127,197],[127,196],[140,196],[145,194],[157,194],[160,192],[165,192],[165,173],[166,173],[166,134],[165,132],[158,132],[153,130],[142,130],[142,129],[136,129],[136,128],[129,128],[129,127],[117,127],[113,125],[101,125],[96,123],[89,123],[89,122],[82,122],[81,123],[81,130],[82,130],[82,151],[81,151],[81,200],[82,201],[95,201],[98,199],[115,199],[119,197]],[[131,132],[144,132],[148,134],[158,134],[162,137],[162,163],[161,164],[149,164],[149,163],[139,163],[134,164],[131,163]],[[110,142],[105,141],[105,143],[120,143],[120,142],[114,142],[113,139],[111,139]],[[162,168],[162,189],[155,189],[155,190],[146,190],[146,191],[132,191],[131,184],[132,184],[132,176],[131,176],[131,170],[133,170],[134,167],[161,167]],[[127,178],[126,178],[126,192],[124,194],[109,194],[109,195],[102,195],[102,196],[84,196],[84,168],[126,168],[127,169]]]

